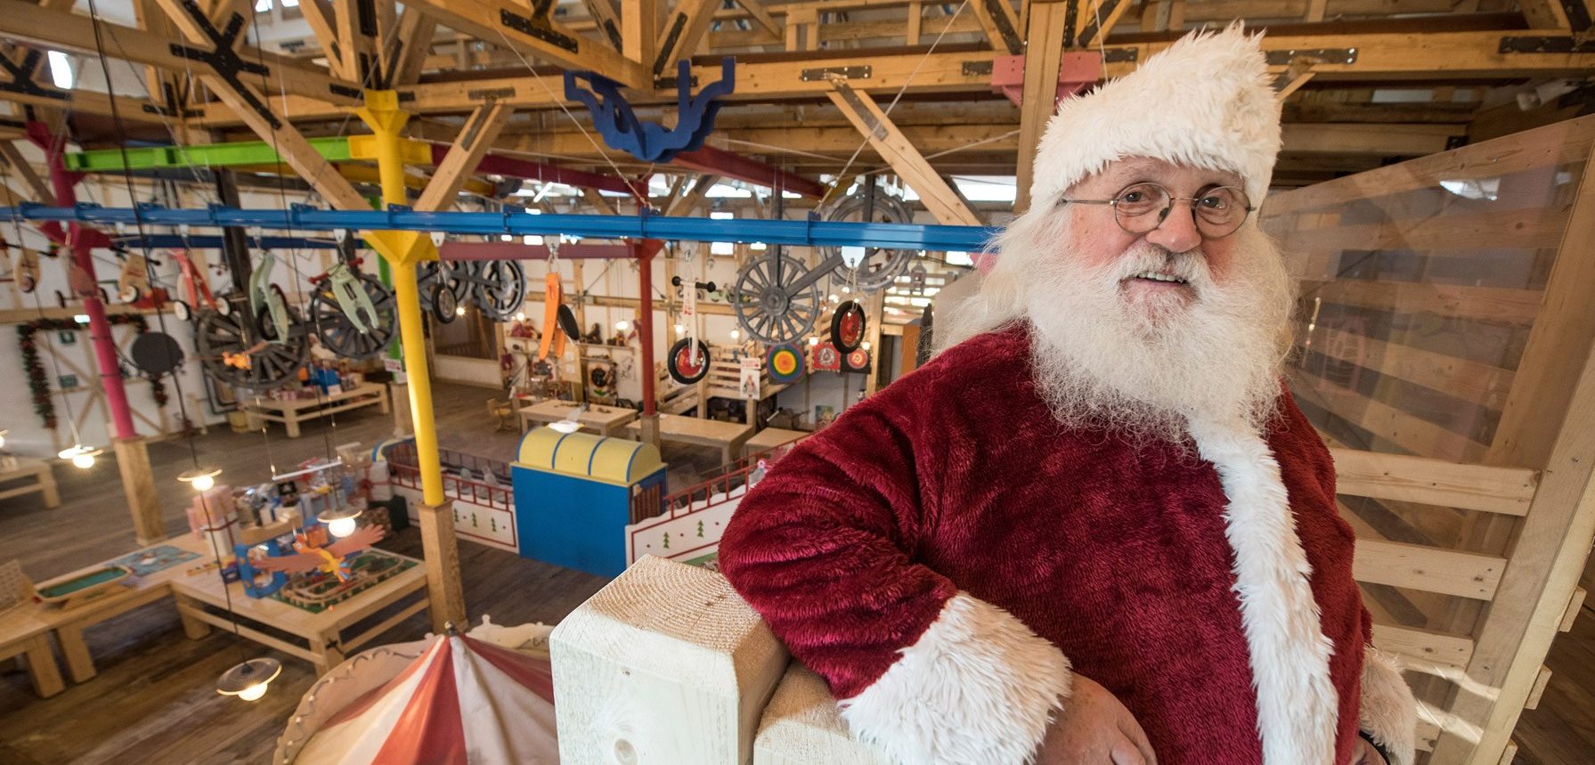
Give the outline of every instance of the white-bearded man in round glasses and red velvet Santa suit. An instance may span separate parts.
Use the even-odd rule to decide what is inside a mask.
[[[951,347],[732,516],[721,571],[890,760],[1413,762],[1279,378],[1278,151],[1239,27],[1064,102]]]

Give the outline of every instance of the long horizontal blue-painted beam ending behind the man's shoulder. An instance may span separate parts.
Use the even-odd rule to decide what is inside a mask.
[[[0,220],[77,220],[99,226],[244,226],[297,231],[443,231],[451,234],[538,234],[593,239],[665,239],[687,242],[764,242],[809,247],[890,247],[931,252],[981,252],[997,234],[984,226],[919,223],[853,223],[829,220],[710,220],[667,215],[530,215],[523,207],[501,212],[319,210],[282,209],[164,209],[155,206],[0,207]]]

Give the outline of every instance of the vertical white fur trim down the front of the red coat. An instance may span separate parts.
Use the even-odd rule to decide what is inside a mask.
[[[1225,537],[1235,551],[1235,591],[1257,688],[1265,765],[1330,765],[1340,717],[1329,679],[1333,642],[1324,636],[1308,577],[1313,567],[1290,515],[1279,462],[1241,422],[1190,424],[1230,500]]]

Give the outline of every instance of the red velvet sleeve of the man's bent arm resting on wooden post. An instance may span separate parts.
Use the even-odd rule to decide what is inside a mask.
[[[719,545],[726,579],[839,698],[880,677],[957,594],[914,563],[936,478],[916,461],[908,422],[925,418],[904,382],[774,465]]]

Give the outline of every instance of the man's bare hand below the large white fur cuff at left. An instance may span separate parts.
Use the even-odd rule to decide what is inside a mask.
[[[1046,728],[1035,765],[1156,765],[1147,733],[1113,693],[1073,676],[1064,709]]]

